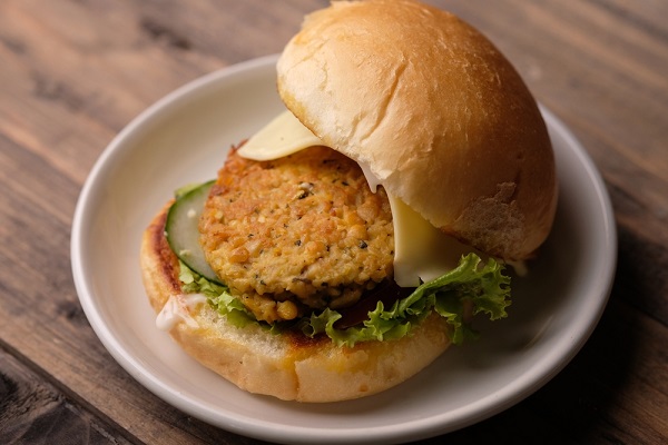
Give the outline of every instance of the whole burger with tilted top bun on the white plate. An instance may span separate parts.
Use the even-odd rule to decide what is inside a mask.
[[[276,68],[286,110],[146,229],[147,295],[247,392],[372,395],[507,317],[554,218],[550,139],[501,52],[416,1],[334,1]]]

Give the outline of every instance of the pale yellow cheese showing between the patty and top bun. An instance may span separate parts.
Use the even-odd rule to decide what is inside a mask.
[[[289,111],[284,111],[255,134],[237,151],[254,160],[272,160],[292,155],[323,141],[302,125]],[[362,165],[369,187],[375,192],[382,182],[369,166]],[[386,191],[386,190],[385,190]],[[432,226],[397,197],[391,196],[394,224],[394,280],[402,287],[419,286],[455,268],[471,247],[458,243]]]

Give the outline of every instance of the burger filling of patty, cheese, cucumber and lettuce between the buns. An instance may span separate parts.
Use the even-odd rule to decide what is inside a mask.
[[[230,150],[215,181],[177,190],[165,236],[184,294],[204,295],[237,327],[350,347],[402,338],[433,313],[459,344],[475,336],[471,316],[507,316],[502,263],[442,234],[299,126],[278,117]]]

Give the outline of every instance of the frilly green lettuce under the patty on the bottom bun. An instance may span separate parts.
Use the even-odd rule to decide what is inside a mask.
[[[227,316],[235,326],[258,323],[226,287],[208,281],[184,264],[181,264],[179,278],[184,284],[184,291],[198,291],[206,295],[212,306],[220,315]],[[452,343],[458,345],[465,339],[477,337],[477,333],[466,323],[468,310],[472,310],[472,315],[484,313],[494,320],[508,316],[505,308],[510,304],[510,277],[503,275],[503,265],[489,259],[481,266],[480,257],[469,254],[461,258],[455,269],[434,280],[423,283],[409,297],[396,300],[392,307],[386,309],[383,303],[379,301],[376,308],[369,313],[369,319],[361,326],[336,328],[336,320],[342,315],[327,308],[293,324],[272,326],[271,330],[298,328],[310,337],[325,334],[335,344],[352,347],[360,342],[402,338],[410,334],[413,326],[419,325],[432,310],[435,310],[448,319],[452,328]],[[261,325],[268,327],[265,323]]]

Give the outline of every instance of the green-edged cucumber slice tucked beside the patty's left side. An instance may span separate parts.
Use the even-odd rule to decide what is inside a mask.
[[[205,182],[177,197],[167,212],[165,236],[178,259],[193,271],[210,281],[223,284],[206,261],[199,245],[199,216],[214,182]]]

